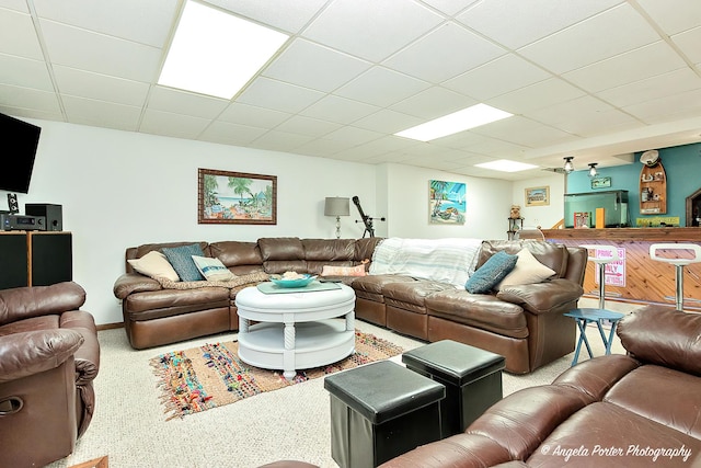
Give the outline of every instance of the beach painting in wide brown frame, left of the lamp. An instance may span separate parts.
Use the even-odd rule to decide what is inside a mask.
[[[197,222],[277,224],[275,175],[198,169]]]

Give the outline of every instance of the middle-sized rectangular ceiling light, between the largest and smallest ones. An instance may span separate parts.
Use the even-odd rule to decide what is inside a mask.
[[[486,104],[476,104],[452,114],[444,115],[425,124],[394,134],[399,137],[429,141],[446,135],[457,134],[470,128],[479,127],[491,122],[510,117],[514,114],[501,111]]]

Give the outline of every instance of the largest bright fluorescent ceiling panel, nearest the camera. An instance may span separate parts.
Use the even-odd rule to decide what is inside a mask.
[[[231,99],[287,39],[286,34],[187,1],[158,83]]]

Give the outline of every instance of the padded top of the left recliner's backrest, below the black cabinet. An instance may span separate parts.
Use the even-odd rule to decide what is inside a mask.
[[[80,308],[85,290],[73,282],[0,290],[0,326]]]

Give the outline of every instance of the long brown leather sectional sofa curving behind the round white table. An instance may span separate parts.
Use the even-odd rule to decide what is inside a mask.
[[[199,244],[205,255],[218,258],[235,275],[320,274],[325,265],[356,266],[371,260],[381,240],[261,238]],[[193,242],[128,248],[126,260],[188,243]],[[553,277],[509,286],[497,294],[470,294],[404,275],[338,278],[355,289],[356,318],[420,340],[450,339],[492,351],[505,356],[507,372],[526,374],[574,351],[576,327],[562,315],[576,307],[583,294],[587,252],[540,241],[483,241],[476,266],[498,251],[516,254],[522,248],[555,271]],[[366,270],[370,265],[366,263]],[[158,281],[136,273],[128,262],[114,285],[135,349],[238,330],[234,299],[240,289],[164,289]]]

